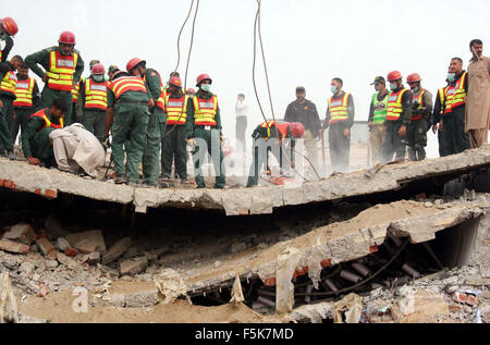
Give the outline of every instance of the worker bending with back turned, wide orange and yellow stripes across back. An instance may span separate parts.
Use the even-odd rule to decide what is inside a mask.
[[[139,164],[146,146],[149,107],[155,106],[149,98],[145,82],[126,72],[112,76],[107,95],[105,145],[108,146],[109,132],[112,132],[112,158],[114,160],[115,184],[139,185]],[[131,144],[126,143],[130,134]],[[124,147],[126,167],[124,165]]]

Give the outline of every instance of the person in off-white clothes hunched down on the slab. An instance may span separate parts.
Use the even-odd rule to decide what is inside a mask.
[[[97,168],[103,165],[106,152],[99,139],[79,123],[49,134],[58,169],[74,174],[97,177]]]

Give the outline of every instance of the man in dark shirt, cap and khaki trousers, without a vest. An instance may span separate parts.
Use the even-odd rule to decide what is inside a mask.
[[[303,136],[306,153],[315,169],[318,169],[318,144],[320,135],[320,116],[314,102],[306,99],[306,89],[303,86],[296,87],[296,100],[287,104],[284,121],[299,122],[305,127]],[[323,135],[323,134],[321,134]],[[309,170],[309,167],[308,167]]]

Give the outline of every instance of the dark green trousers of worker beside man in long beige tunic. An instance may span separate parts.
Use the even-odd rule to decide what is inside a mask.
[[[442,115],[444,156],[463,152],[471,146],[465,132],[465,107],[457,107],[452,113]]]

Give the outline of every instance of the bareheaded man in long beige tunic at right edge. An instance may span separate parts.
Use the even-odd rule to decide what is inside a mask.
[[[468,96],[466,99],[465,131],[471,148],[488,143],[490,128],[490,58],[483,57],[483,42],[469,42],[473,58],[468,65]]]

